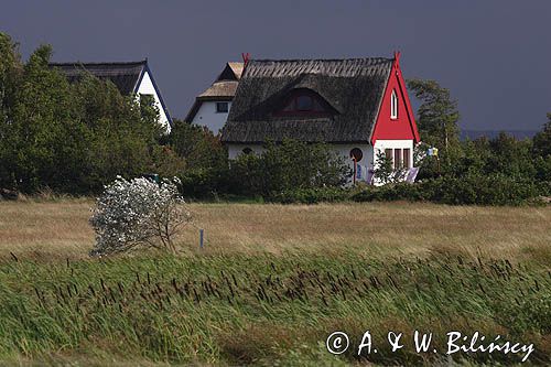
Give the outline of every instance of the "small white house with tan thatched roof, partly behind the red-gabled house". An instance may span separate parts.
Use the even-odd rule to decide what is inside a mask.
[[[217,133],[226,123],[244,63],[227,63],[224,71],[205,91],[195,98],[185,120],[205,126]]]

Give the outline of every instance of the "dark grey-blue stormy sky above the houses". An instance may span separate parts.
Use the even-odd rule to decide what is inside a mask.
[[[0,31],[26,57],[148,57],[183,118],[225,62],[388,56],[460,100],[466,129],[538,130],[551,111],[551,1],[26,1],[1,0]]]

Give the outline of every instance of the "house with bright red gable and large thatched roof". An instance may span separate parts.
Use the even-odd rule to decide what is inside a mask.
[[[290,138],[331,144],[359,181],[377,184],[378,152],[414,172],[420,139],[399,56],[249,61],[222,134],[229,158]]]

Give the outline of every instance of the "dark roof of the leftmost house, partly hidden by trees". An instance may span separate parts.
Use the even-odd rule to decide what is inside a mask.
[[[138,82],[147,67],[148,62],[129,62],[129,63],[51,63],[50,65],[58,68],[66,75],[69,83],[79,79],[83,73],[104,79],[111,80],[121,95],[129,95],[136,91]]]

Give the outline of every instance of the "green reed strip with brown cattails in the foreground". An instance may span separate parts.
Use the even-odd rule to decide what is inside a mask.
[[[4,260],[0,289],[0,355],[26,360],[414,366],[439,356],[412,353],[410,338],[395,353],[379,342],[367,361],[357,348],[332,357],[323,344],[337,330],[356,346],[366,330],[374,341],[386,341],[388,331],[420,330],[432,332],[434,347],[445,353],[446,333],[458,330],[534,343],[529,360],[550,363],[545,269],[461,250],[385,260],[356,252]],[[446,364],[511,365],[521,357],[465,353]]]

